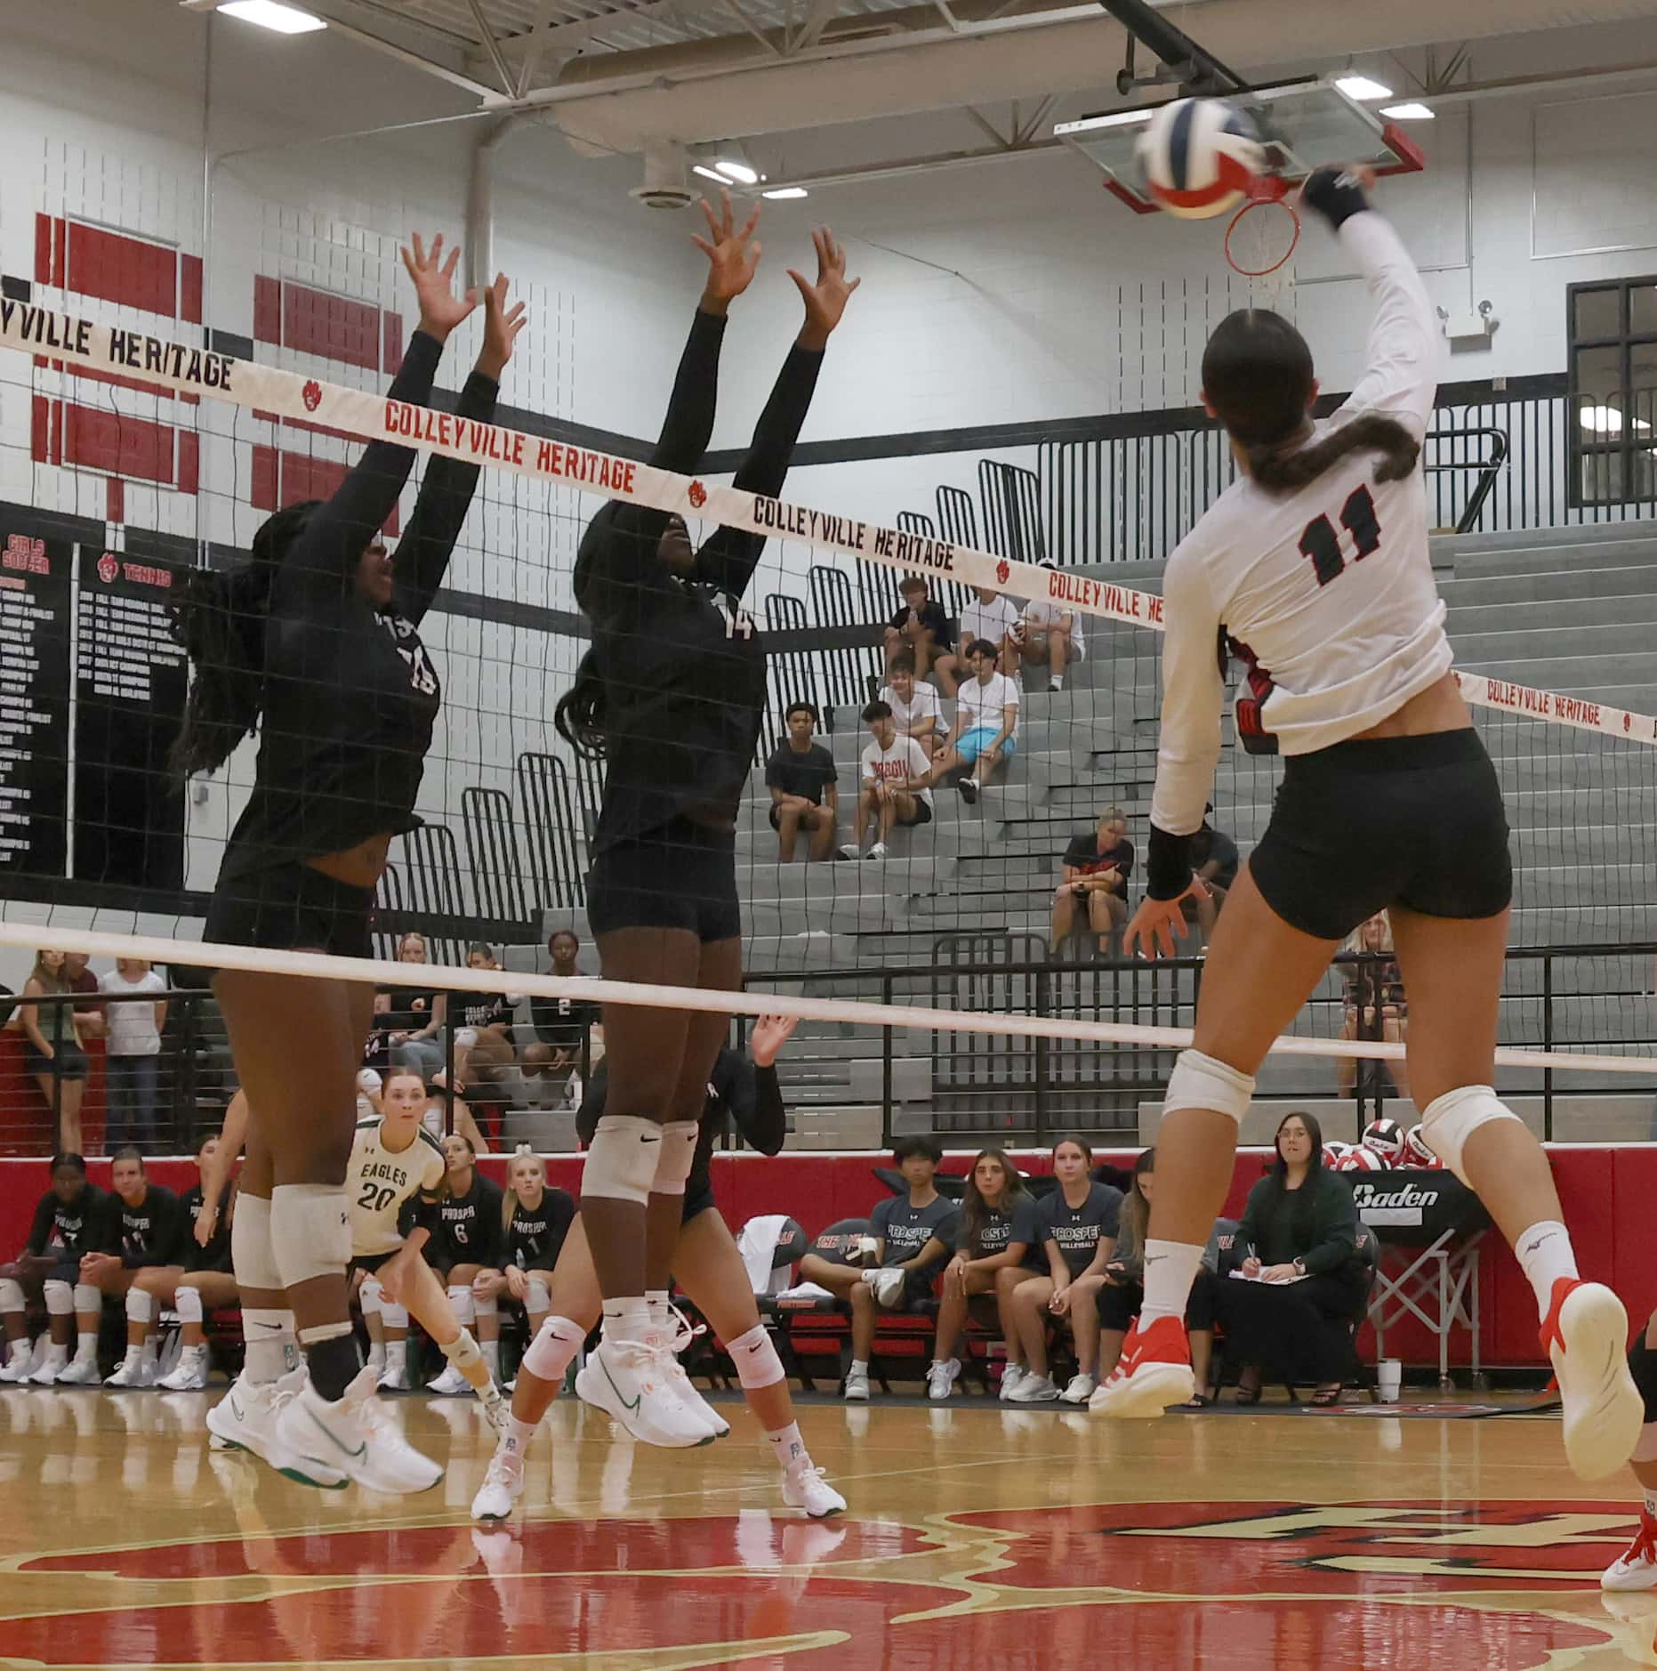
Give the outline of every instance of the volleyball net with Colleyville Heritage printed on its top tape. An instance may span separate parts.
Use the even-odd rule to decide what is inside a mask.
[[[174,1069],[169,1108],[180,1138],[215,1123],[232,1084],[202,969],[281,959],[200,944],[256,744],[209,777],[180,784],[169,772],[185,665],[167,602],[190,568],[239,561],[272,511],[326,498],[376,438],[421,456],[388,520],[388,545],[406,530],[434,458],[474,461],[481,476],[421,625],[443,683],[418,802],[424,822],[393,844],[376,914],[381,959],[414,932],[429,966],[361,966],[362,979],[436,988],[458,1003],[504,993],[519,999],[519,1043],[536,1038],[536,999],[618,999],[613,986],[600,993],[546,973],[545,946],[561,927],[586,939],[588,844],[603,790],[601,762],[573,754],[553,729],[585,648],[570,590],[575,551],[600,503],[630,500],[683,515],[693,543],[720,525],[767,536],[745,597],[768,643],[767,714],[737,832],[748,989],[698,994],[697,1004],[800,1016],[790,1103],[840,1146],[914,1128],[1138,1135],[1188,1036],[1201,961],[1129,962],[1089,924],[1056,946],[1052,919],[1061,857],[1104,810],[1122,814],[1143,854],[1161,600],[1107,568],[1049,566],[1064,553],[1052,550],[1032,473],[986,461],[977,501],[945,490],[890,526],[740,493],[712,473],[651,470],[568,421],[511,404],[523,384],[556,381],[546,361],[565,353],[563,333],[545,314],[531,319],[498,421],[483,424],[456,416],[441,393],[429,409],[386,398],[403,336],[384,309],[277,284],[274,296],[256,294],[257,358],[229,353],[252,344],[214,333],[197,346],[202,333],[157,331],[130,309],[87,304],[99,294],[94,269],[67,282],[73,227],[63,236],[62,271],[57,254],[47,257],[60,282],[33,294],[63,294],[73,307],[10,292],[0,301],[0,944],[15,988],[30,951],[57,947],[90,954],[95,968],[117,954],[144,957],[165,966],[170,989],[190,989],[174,1006],[174,1026],[187,1016],[190,1034],[167,1046],[194,1063],[187,1091]],[[182,271],[175,286],[182,297]],[[476,321],[456,331],[439,389],[463,383],[476,343]],[[780,343],[773,353],[780,361]],[[671,363],[650,374],[665,401]],[[812,742],[828,752],[839,792],[832,846],[852,842],[870,745],[860,715],[885,683],[884,628],[900,613],[899,582],[914,575],[952,637],[984,603],[974,595],[982,588],[1016,600],[1029,623],[1076,617],[1086,658],[1069,660],[1057,692],[1046,688],[1046,657],[1026,658],[1016,752],[986,775],[977,800],[944,779],[929,820],[894,830],[880,862],[808,862],[807,832],[783,862],[767,765],[788,747],[787,710],[813,709]],[[1604,1116],[1595,1133],[1620,1120],[1622,1135],[1645,1136],[1634,1128],[1657,1083],[1644,949],[1657,937],[1657,727],[1590,690],[1492,673],[1467,673],[1462,685],[1515,827],[1522,949],[1508,966],[1500,1088],[1550,1106],[1573,1098],[1572,1108],[1594,1105]],[[950,722],[944,702],[939,729]],[[1228,720],[1213,824],[1244,856],[1264,829],[1274,780],[1274,764],[1236,747]],[[473,942],[501,968],[464,968]],[[342,973],[311,957],[294,968]],[[1398,1046],[1380,1023],[1355,1024],[1348,993],[1333,971],[1266,1064],[1264,1101],[1348,1095],[1358,1120],[1365,1096],[1375,1106],[1400,1098],[1403,1083],[1385,1066]],[[92,1014],[89,999],[80,1006]],[[62,996],[43,1006],[68,1008]],[[10,1019],[15,1031],[20,1011]],[[109,1014],[100,1023],[77,1023],[77,1034],[110,1044],[120,1029]],[[1345,1036],[1355,1031],[1375,1036]],[[5,1058],[0,1140],[10,1133],[43,1151],[42,1084],[52,1076],[23,1054],[25,1043],[13,1039]],[[197,1071],[207,1058],[212,1071]]]

